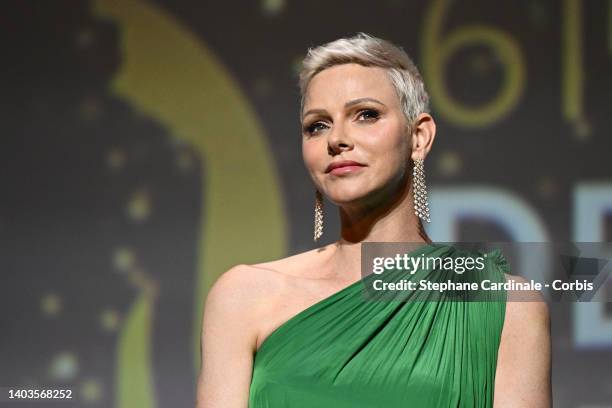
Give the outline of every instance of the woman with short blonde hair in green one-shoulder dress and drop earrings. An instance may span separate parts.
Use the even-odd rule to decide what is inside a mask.
[[[429,221],[422,163],[436,125],[410,58],[360,33],[309,50],[300,87],[315,240],[322,195],[338,206],[341,236],[217,280],[205,305],[197,406],[550,406],[545,303],[398,306],[358,296],[363,242],[454,253],[421,224]],[[501,255],[491,262],[491,276],[511,276]]]

